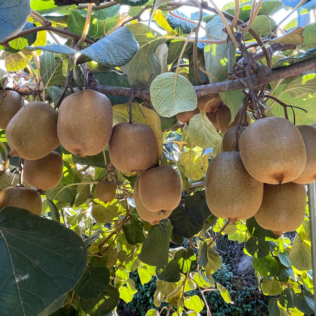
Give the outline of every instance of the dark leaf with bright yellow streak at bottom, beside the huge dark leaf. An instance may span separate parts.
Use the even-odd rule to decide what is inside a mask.
[[[90,316],[105,316],[110,313],[118,304],[119,291],[113,285],[109,284],[102,294],[92,300],[79,300],[82,310]]]

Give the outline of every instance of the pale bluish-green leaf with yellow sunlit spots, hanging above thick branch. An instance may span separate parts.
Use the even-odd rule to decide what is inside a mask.
[[[228,21],[228,20],[227,20]],[[230,21],[228,21],[230,23]],[[207,40],[226,40],[227,34],[223,31],[225,24],[220,16],[206,23],[205,38]],[[204,47],[205,68],[210,83],[224,81],[233,69],[236,61],[236,47],[231,40],[225,44],[206,44]],[[217,79],[215,80],[214,77]]]

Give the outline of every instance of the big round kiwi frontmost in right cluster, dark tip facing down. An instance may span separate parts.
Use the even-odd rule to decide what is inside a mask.
[[[306,165],[303,137],[285,118],[261,118],[247,126],[239,152],[251,176],[269,184],[295,180]]]

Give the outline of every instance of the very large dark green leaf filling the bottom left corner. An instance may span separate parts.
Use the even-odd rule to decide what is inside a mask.
[[[0,211],[0,248],[6,315],[39,315],[74,287],[87,260],[74,232],[11,206]]]

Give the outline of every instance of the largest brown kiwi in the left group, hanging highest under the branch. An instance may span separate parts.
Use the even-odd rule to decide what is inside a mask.
[[[57,123],[60,143],[81,158],[99,154],[106,147],[112,125],[111,102],[100,92],[78,91],[60,105]]]

